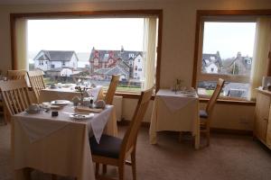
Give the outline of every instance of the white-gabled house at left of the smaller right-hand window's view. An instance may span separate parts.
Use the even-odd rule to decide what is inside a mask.
[[[222,67],[222,60],[220,58],[220,51],[216,54],[202,54],[201,72],[209,74],[218,74]]]

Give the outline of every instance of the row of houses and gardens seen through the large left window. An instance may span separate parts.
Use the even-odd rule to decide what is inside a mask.
[[[86,59],[87,58],[87,59]],[[142,51],[91,49],[90,53],[70,50],[41,50],[30,69],[40,69],[48,80],[76,82],[79,78],[92,83],[108,84],[112,75],[120,74],[122,85],[140,88],[144,80]]]

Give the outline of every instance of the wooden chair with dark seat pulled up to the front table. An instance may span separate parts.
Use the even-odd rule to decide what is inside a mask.
[[[137,133],[140,128],[141,121],[144,118],[148,103],[152,97],[153,88],[142,92],[137,103],[133,120],[130,122],[124,139],[118,139],[108,135],[102,135],[99,144],[94,137],[89,139],[92,160],[96,162],[96,175],[98,175],[99,164],[118,166],[119,180],[124,179],[125,164],[132,166],[133,179],[135,180],[135,148]],[[126,161],[126,158],[131,156],[131,162]],[[106,169],[103,169],[106,173]]]

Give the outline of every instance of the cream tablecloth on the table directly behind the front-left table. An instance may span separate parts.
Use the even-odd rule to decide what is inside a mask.
[[[41,90],[41,102],[51,102],[54,100],[69,100],[76,95],[80,97],[80,93],[76,92],[74,89],[75,86],[71,87],[61,87],[61,88],[46,88]],[[89,89],[88,94],[92,94],[94,96],[94,101],[101,100],[104,98],[103,94],[103,86],[97,85],[96,87]]]

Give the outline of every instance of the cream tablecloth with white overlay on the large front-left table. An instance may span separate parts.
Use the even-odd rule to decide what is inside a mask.
[[[70,119],[70,106],[58,117],[50,112],[14,115],[14,179],[24,179],[23,168],[44,173],[69,175],[78,180],[95,179],[89,148],[89,136],[99,140],[102,132],[117,136],[114,106],[86,121]]]

